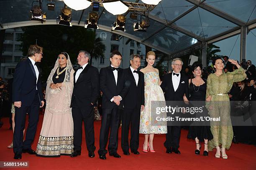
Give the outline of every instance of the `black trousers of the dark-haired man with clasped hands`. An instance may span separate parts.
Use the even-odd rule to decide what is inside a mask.
[[[102,109],[102,119],[100,127],[100,149],[98,154],[113,154],[118,149],[118,128],[120,124],[120,110],[117,106],[113,109]],[[110,137],[108,142],[108,135],[110,131]],[[108,151],[106,146],[108,143]]]

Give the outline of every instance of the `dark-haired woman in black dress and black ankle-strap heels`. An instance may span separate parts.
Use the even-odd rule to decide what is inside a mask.
[[[201,101],[205,103],[206,96],[206,81],[201,78],[202,64],[194,62],[192,65],[192,72],[195,76],[193,79],[189,79],[189,101]],[[199,103],[199,102],[198,102]],[[200,106],[199,106],[200,107]],[[206,113],[206,110],[202,113]],[[202,115],[200,115],[202,116]],[[206,115],[207,116],[207,115]],[[199,117],[199,115],[197,115]],[[210,126],[202,126],[202,122],[196,123],[189,127],[189,133],[187,135],[189,139],[195,139],[196,150],[195,154],[200,155],[201,144],[200,141],[204,141],[204,156],[208,156],[208,140],[213,138]]]

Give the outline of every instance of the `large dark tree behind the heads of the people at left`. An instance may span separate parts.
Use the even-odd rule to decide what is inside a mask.
[[[43,80],[45,81],[54,67],[57,56],[60,52],[67,52],[72,64],[77,63],[77,54],[79,50],[93,52],[92,57],[98,57],[97,52],[105,51],[105,46],[102,50],[94,50],[96,34],[92,30],[87,30],[82,27],[73,26],[67,27],[63,25],[40,25],[23,28],[25,31],[21,38],[23,55],[27,55],[28,47],[37,44],[44,48],[44,57],[40,63],[42,69]],[[96,39],[97,42],[99,39]],[[97,51],[97,55],[95,52]]]

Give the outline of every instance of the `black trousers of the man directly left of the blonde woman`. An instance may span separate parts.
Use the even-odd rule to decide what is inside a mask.
[[[137,151],[139,147],[139,131],[140,131],[141,106],[134,109],[124,109],[122,114],[122,135],[121,147],[123,151],[129,150],[129,128],[131,124],[131,151]]]

